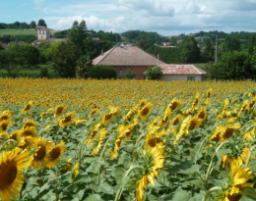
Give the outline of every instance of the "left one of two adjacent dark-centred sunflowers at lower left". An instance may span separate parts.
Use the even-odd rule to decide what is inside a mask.
[[[48,139],[42,140],[41,137],[34,139],[35,153],[31,157],[31,165],[33,169],[39,170],[46,168],[47,160],[46,153],[50,150],[53,142],[48,142]]]

